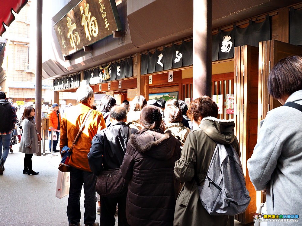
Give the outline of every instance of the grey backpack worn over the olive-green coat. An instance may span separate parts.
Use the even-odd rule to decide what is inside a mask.
[[[196,175],[196,174],[195,174]],[[251,201],[238,154],[232,145],[217,143],[204,185],[197,177],[202,206],[210,215],[236,215]]]

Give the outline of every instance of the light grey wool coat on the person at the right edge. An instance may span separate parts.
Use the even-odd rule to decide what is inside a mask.
[[[290,101],[302,105],[302,90],[289,96],[286,102]],[[268,112],[247,168],[255,189],[266,189],[267,214],[302,216],[301,111],[281,106]],[[276,224],[268,222],[268,225]],[[281,224],[301,225],[299,222]]]

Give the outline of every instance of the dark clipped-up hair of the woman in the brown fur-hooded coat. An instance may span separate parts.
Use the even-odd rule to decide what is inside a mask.
[[[140,123],[147,130],[154,130],[158,133],[164,133],[165,124],[158,107],[146,105],[140,113]]]

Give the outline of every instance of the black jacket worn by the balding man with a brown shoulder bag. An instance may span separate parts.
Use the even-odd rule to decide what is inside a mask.
[[[103,169],[120,168],[130,135],[131,129],[124,122],[119,122],[93,137],[88,163],[95,175],[99,175]]]

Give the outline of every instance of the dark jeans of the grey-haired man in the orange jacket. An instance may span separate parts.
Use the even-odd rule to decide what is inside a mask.
[[[87,172],[71,167],[70,188],[67,204],[67,217],[69,224],[78,225],[81,220],[80,197],[84,184],[84,224],[92,225],[96,217],[96,197],[95,185],[96,176],[92,172]]]

